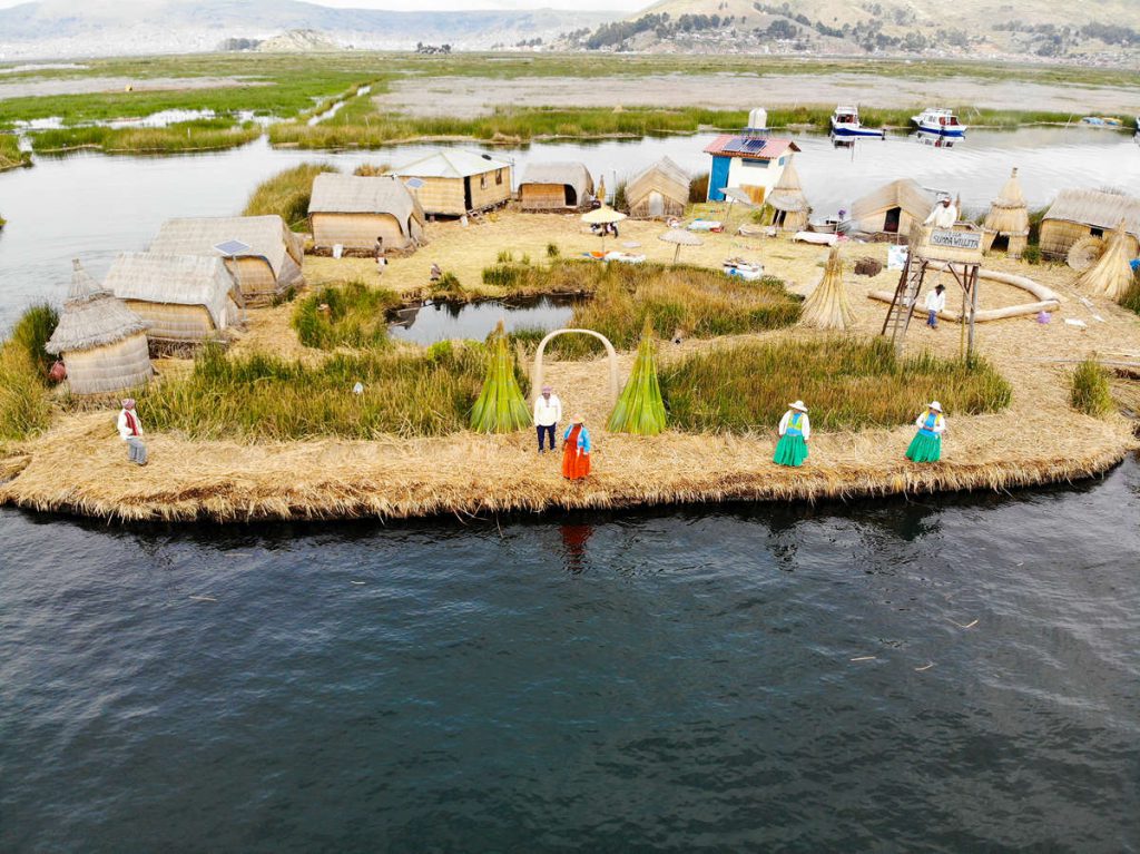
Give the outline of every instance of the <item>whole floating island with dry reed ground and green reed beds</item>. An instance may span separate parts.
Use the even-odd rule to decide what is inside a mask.
[[[300,174],[250,212],[296,225],[290,211],[317,170],[304,173],[308,186]],[[896,190],[891,204],[913,195]],[[868,218],[881,208],[873,202]],[[988,228],[1013,236],[1015,226]],[[123,521],[234,522],[815,501],[1075,481],[1138,447],[1117,391],[1140,373],[1140,317],[1115,298],[1115,247],[1129,249],[1116,231],[1107,273],[1090,270],[1085,284],[1062,263],[987,255],[984,269],[999,275],[983,279],[980,310],[1024,302],[1002,277],[1032,279],[1058,304],[1050,323],[980,324],[975,357],[963,359],[953,323],[937,332],[912,324],[901,353],[880,334],[887,307],[869,296],[893,290],[899,274],[857,276],[853,267],[856,258],[886,265],[883,244],[832,253],[784,236],[709,233],[674,263],[676,246],[658,239],[665,229],[654,219],[621,223],[620,241],[644,255],[622,263],[595,260],[601,239],[575,213],[427,221],[421,249],[392,257],[382,275],[370,259],[304,255],[296,299],[239,306],[238,320],[229,307],[241,287],[220,260],[201,273],[196,261],[148,262],[173,271],[172,295],[154,298],[171,307],[155,314],[161,330],[177,312],[193,315],[195,331],[227,324],[223,341],[162,359],[160,376],[133,391],[149,465],[127,465],[115,397],[46,382],[55,357],[43,348],[59,320],[40,309],[0,348],[0,502]],[[727,276],[726,259],[763,265],[765,276]],[[146,320],[137,304],[146,294],[124,283],[150,268],[131,265],[111,287],[83,278],[65,307],[79,317],[106,303],[117,325],[88,336],[65,328],[50,349],[92,343],[98,355],[105,339],[137,335],[106,293]],[[546,327],[429,347],[389,331],[409,307],[458,311],[554,293],[577,294],[564,325],[605,336],[612,353],[594,335],[551,337]],[[503,315],[511,319],[508,308]],[[585,481],[563,480],[554,456],[536,454],[529,409],[539,353],[542,382],[591,430]],[[935,398],[951,424],[942,462],[910,463],[913,420]],[[793,470],[772,454],[776,422],[796,399],[815,430],[808,462]]]

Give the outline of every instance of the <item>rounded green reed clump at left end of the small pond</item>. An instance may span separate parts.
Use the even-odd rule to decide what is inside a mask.
[[[306,347],[376,349],[388,344],[388,312],[400,304],[394,291],[363,282],[321,287],[293,311],[293,328]]]

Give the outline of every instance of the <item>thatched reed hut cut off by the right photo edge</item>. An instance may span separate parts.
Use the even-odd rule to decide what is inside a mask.
[[[1099,189],[1062,189],[1041,221],[1041,254],[1061,259],[1084,237],[1101,237],[1124,220],[1125,251],[1135,258],[1140,245],[1140,198]]]

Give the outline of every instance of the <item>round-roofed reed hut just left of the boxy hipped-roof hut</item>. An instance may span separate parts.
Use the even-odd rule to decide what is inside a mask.
[[[415,249],[424,238],[424,212],[415,194],[393,176],[321,172],[312,181],[309,225],[318,247]]]

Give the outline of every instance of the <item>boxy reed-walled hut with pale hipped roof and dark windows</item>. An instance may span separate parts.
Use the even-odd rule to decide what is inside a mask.
[[[400,178],[418,178],[415,189],[423,210],[433,215],[462,217],[505,204],[514,192],[511,164],[490,154],[448,148],[393,170]]]

